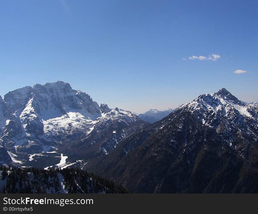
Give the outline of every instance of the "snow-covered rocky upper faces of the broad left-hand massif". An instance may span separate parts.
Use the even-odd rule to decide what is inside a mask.
[[[128,127],[144,125],[133,113],[110,109],[107,104],[99,106],[88,94],[62,81],[26,86],[10,91],[4,100],[0,97],[1,145],[17,156],[16,163],[30,165],[31,154],[57,151],[60,144],[69,147],[94,129],[107,129],[113,120]]]

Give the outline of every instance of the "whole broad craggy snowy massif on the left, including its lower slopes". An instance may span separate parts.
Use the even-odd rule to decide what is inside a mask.
[[[26,86],[0,97],[0,161],[47,167],[65,164],[85,149],[95,156],[108,154],[146,124],[130,111],[99,106],[63,81]]]

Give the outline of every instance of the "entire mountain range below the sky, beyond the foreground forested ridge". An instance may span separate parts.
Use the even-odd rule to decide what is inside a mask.
[[[35,84],[0,98],[0,126],[4,165],[79,167],[133,193],[258,193],[258,104],[225,88],[136,116]]]

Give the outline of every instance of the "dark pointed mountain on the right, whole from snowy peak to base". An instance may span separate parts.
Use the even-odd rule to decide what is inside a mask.
[[[223,88],[139,130],[86,169],[137,193],[257,193],[257,154],[258,104]]]

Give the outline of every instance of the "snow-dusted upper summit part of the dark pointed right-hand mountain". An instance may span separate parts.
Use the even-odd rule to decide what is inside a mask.
[[[258,104],[240,101],[225,88],[216,93],[202,94],[192,102],[182,105],[177,111],[190,111],[204,125],[216,129],[218,134],[228,137],[233,146],[232,133],[245,132],[256,136],[258,132]]]

